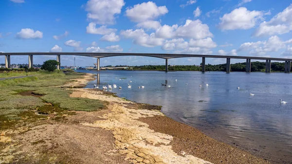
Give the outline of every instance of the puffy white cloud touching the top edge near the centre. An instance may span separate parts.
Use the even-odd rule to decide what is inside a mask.
[[[126,16],[134,22],[144,22],[146,20],[153,20],[159,16],[168,13],[166,6],[157,6],[152,1],[136,4],[134,7],[128,7]]]

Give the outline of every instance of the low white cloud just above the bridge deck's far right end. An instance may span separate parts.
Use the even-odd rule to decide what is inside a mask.
[[[240,45],[238,51],[250,51],[252,55],[264,55],[268,52],[277,52],[286,47],[285,43],[278,36],[271,36],[267,41],[246,42]]]

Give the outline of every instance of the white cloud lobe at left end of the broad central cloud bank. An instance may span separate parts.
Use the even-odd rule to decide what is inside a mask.
[[[163,45],[163,38],[158,38],[155,36],[155,33],[150,35],[146,34],[143,29],[137,30],[122,30],[121,35],[125,36],[126,38],[132,38],[134,44],[138,44],[144,47],[155,47]]]

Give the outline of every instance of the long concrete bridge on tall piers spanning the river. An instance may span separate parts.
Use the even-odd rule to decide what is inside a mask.
[[[202,58],[202,72],[205,72],[205,59],[209,58],[226,58],[226,72],[230,72],[230,59],[246,59],[246,72],[251,72],[251,60],[266,60],[266,73],[271,73],[271,60],[285,61],[285,73],[290,73],[292,59],[287,58],[274,58],[274,57],[253,57],[253,56],[223,56],[223,55],[190,55],[190,54],[148,54],[148,53],[0,53],[5,56],[5,67],[10,68],[10,56],[11,55],[28,55],[29,68],[33,67],[34,55],[56,55],[58,62],[61,61],[61,55],[79,55],[89,56],[97,58],[97,70],[99,71],[100,63],[99,59],[102,57],[111,56],[150,56],[165,59],[165,71],[168,71],[168,59],[179,58],[179,57],[201,57]],[[60,66],[57,66],[60,69]]]

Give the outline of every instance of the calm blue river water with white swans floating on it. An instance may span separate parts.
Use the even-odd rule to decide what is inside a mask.
[[[96,71],[78,72],[97,75]],[[167,116],[199,128],[219,141],[272,161],[292,163],[291,73],[98,73],[99,80],[91,81],[87,88],[98,83],[100,88],[116,84],[122,89],[113,89],[112,92],[120,97],[161,105]],[[132,85],[131,89],[128,89],[128,83]],[[171,87],[164,87],[161,83]],[[145,88],[138,89],[138,86]],[[250,96],[250,93],[255,95]],[[288,103],[280,104],[280,99]]]

